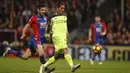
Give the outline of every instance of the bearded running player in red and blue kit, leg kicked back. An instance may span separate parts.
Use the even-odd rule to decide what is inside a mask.
[[[38,14],[32,16],[29,22],[24,26],[21,39],[26,37],[26,32],[28,28],[31,27],[33,30],[33,34],[30,36],[28,48],[26,52],[23,54],[20,51],[15,51],[11,49],[9,46],[6,46],[5,52],[3,56],[6,54],[13,54],[21,59],[28,59],[32,53],[37,52],[39,54],[39,59],[41,64],[45,64],[45,49],[43,48],[43,44],[45,42],[44,34],[46,32],[48,18],[45,16],[46,7],[44,5],[38,6]],[[53,69],[44,68],[45,73],[50,73]],[[42,67],[40,66],[39,73],[42,73]]]

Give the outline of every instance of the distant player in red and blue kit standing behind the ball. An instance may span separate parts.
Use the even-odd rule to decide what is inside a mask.
[[[90,29],[89,29],[89,36],[88,36],[88,41],[93,41],[95,46],[101,46],[102,48],[102,40],[104,35],[106,35],[106,26],[103,22],[101,22],[101,17],[100,16],[96,16],[95,17],[95,23],[90,25]],[[92,53],[92,58],[90,59],[90,63],[93,65],[95,60],[95,57],[98,56],[99,58],[99,64],[103,64],[102,60],[101,60],[101,53]]]

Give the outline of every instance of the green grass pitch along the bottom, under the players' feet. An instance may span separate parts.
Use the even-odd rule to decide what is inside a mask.
[[[103,65],[90,65],[87,60],[74,60],[80,63],[81,68],[75,73],[130,73],[130,62],[105,61]],[[38,73],[40,62],[38,58],[21,60],[19,58],[0,58],[0,73]],[[51,67],[55,67],[54,73],[71,73],[65,60],[59,60]]]

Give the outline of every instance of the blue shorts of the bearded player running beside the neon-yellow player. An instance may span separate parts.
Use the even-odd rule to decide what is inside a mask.
[[[36,41],[34,37],[31,36],[28,43],[28,49],[30,49],[32,52],[36,52],[37,44],[43,44],[43,43],[44,43],[44,39],[40,39]]]

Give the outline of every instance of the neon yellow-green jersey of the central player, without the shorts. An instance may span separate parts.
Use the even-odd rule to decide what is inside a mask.
[[[63,35],[66,36],[67,33],[67,16],[65,14],[58,15],[55,14],[49,18],[51,31],[53,36]]]

